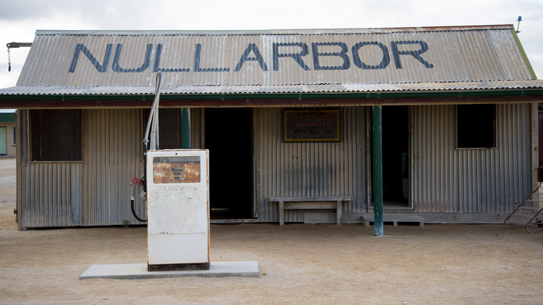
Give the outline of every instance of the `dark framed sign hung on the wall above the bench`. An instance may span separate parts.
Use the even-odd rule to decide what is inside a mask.
[[[283,141],[339,142],[340,110],[283,110]]]

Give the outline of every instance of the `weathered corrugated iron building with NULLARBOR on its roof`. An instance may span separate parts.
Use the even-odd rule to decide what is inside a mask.
[[[373,208],[373,106],[385,212],[496,222],[537,182],[543,81],[512,25],[37,31],[17,86],[0,91],[18,109],[19,228],[137,223],[129,180],[143,174],[157,72],[167,148],[189,109],[191,148],[210,149],[214,221],[276,222],[272,196],[352,196],[343,218],[359,221]],[[292,111],[331,111],[338,129],[296,129]],[[285,221],[326,222],[320,212]]]

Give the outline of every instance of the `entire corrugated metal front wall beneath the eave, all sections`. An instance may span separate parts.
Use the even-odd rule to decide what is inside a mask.
[[[340,107],[341,141],[326,143],[285,143],[281,109],[253,109],[258,221],[278,221],[271,196],[353,196],[344,211],[366,211],[366,109]],[[193,148],[203,143],[201,112],[191,110]],[[455,105],[412,107],[415,212],[509,212],[530,192],[530,104],[498,104],[496,114],[498,148],[459,150]],[[138,223],[129,180],[143,173],[141,109],[84,110],[84,162],[29,162],[28,111],[19,118],[22,227]],[[145,217],[145,205],[136,207]]]

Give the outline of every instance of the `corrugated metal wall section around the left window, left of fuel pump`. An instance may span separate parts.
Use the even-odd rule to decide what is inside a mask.
[[[22,227],[102,226],[138,221],[129,181],[143,174],[141,109],[83,110],[83,162],[29,162],[29,111],[21,111]],[[145,217],[145,204],[136,198]]]

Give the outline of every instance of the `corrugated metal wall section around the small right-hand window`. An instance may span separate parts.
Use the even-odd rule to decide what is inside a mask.
[[[511,212],[531,187],[530,104],[496,105],[498,148],[455,148],[455,105],[413,107],[415,212]]]

